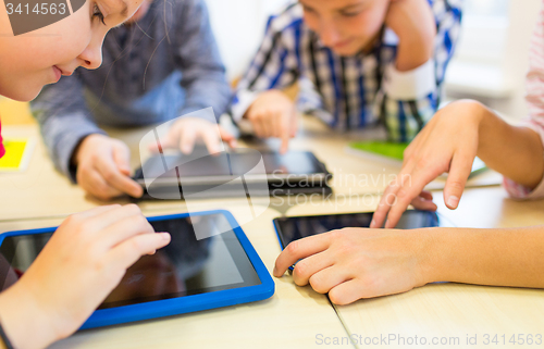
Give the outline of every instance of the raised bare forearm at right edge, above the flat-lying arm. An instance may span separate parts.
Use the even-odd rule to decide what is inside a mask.
[[[544,175],[540,136],[530,128],[509,125],[483,105],[479,109],[482,119],[478,157],[516,183],[535,188]]]

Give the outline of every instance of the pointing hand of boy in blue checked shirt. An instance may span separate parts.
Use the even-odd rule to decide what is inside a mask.
[[[288,150],[289,139],[298,132],[298,114],[295,104],[282,91],[265,91],[248,109],[246,115],[255,134],[261,138],[281,138],[281,153]]]

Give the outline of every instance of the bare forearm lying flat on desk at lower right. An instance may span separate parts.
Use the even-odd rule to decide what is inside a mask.
[[[544,288],[544,226],[426,234],[428,282]]]

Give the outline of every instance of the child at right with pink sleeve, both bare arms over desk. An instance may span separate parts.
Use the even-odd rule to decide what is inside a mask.
[[[293,273],[295,283],[310,283],[338,304],[433,282],[544,288],[544,226],[393,229],[410,202],[436,210],[431,194],[422,190],[444,172],[449,172],[444,200],[456,209],[477,155],[505,175],[514,198],[544,197],[544,12],[531,46],[530,121],[524,126],[507,124],[475,101],[449,104],[406,150],[398,178],[410,180],[387,187],[371,229],[346,228],[296,241],[277,258],[274,275],[304,259]],[[385,219],[386,229],[378,229]]]

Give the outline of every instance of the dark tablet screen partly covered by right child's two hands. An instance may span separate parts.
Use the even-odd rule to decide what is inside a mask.
[[[332,214],[317,216],[281,217],[274,220],[277,235],[285,248],[290,241],[311,235],[346,227],[368,228],[373,213]],[[397,224],[398,229],[440,226],[435,212],[406,211]]]

